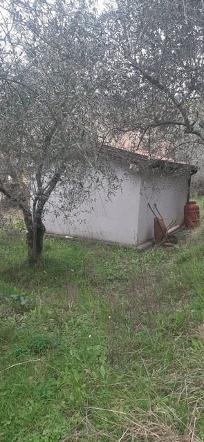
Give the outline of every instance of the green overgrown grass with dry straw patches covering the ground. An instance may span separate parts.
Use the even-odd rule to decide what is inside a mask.
[[[1,231],[1,442],[204,440],[203,233],[142,253],[46,237],[30,267]]]

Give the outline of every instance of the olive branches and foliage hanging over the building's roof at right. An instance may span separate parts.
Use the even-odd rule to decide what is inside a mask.
[[[204,148],[203,0],[115,0],[100,20],[104,115],[115,140],[190,159]]]

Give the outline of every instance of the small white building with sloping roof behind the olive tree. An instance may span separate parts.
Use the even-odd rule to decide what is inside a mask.
[[[77,216],[71,213],[67,219],[64,213],[55,216],[55,204],[60,205],[56,189],[44,215],[47,233],[136,246],[154,238],[154,215],[148,203],[153,209],[156,204],[167,226],[172,222],[183,224],[194,166],[149,160],[122,149],[108,150],[121,180],[120,188],[111,199],[106,198],[107,189],[95,191],[91,204],[82,203]]]

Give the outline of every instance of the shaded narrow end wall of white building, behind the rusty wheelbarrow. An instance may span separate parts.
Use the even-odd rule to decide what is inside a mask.
[[[148,202],[152,209],[156,204],[166,226],[173,220],[176,224],[181,224],[187,192],[187,172],[183,175],[179,171],[168,173],[158,169],[144,172],[140,189],[138,244],[154,238],[154,215],[147,205]]]

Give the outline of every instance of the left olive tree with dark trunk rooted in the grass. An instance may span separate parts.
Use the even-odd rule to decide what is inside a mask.
[[[102,174],[117,185],[101,154],[100,23],[93,2],[80,0],[3,0],[0,14],[0,193],[23,212],[36,261],[55,186],[67,213]]]

